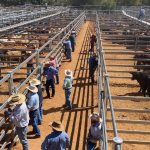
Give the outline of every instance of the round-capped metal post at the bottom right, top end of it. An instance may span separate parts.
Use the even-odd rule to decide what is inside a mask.
[[[113,138],[113,150],[122,150],[123,139],[120,137]]]

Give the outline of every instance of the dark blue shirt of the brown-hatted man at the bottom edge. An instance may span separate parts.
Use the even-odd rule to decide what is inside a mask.
[[[70,139],[65,131],[54,131],[49,134],[41,145],[42,150],[65,150],[70,146]]]

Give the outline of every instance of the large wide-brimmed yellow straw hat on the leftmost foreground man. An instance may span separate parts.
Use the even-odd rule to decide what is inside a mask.
[[[18,93],[10,96],[9,105],[20,105],[25,102],[25,95]]]

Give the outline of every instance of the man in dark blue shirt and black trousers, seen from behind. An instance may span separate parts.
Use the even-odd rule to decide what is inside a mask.
[[[47,96],[45,98],[50,98],[49,86],[52,88],[52,97],[55,95],[55,79],[54,76],[58,74],[58,70],[54,68],[54,63],[49,62],[50,67],[44,72],[46,75],[46,93]]]

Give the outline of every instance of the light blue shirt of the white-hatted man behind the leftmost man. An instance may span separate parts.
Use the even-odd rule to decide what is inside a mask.
[[[33,111],[39,108],[39,96],[37,93],[29,92],[27,94],[27,107],[29,111]]]

